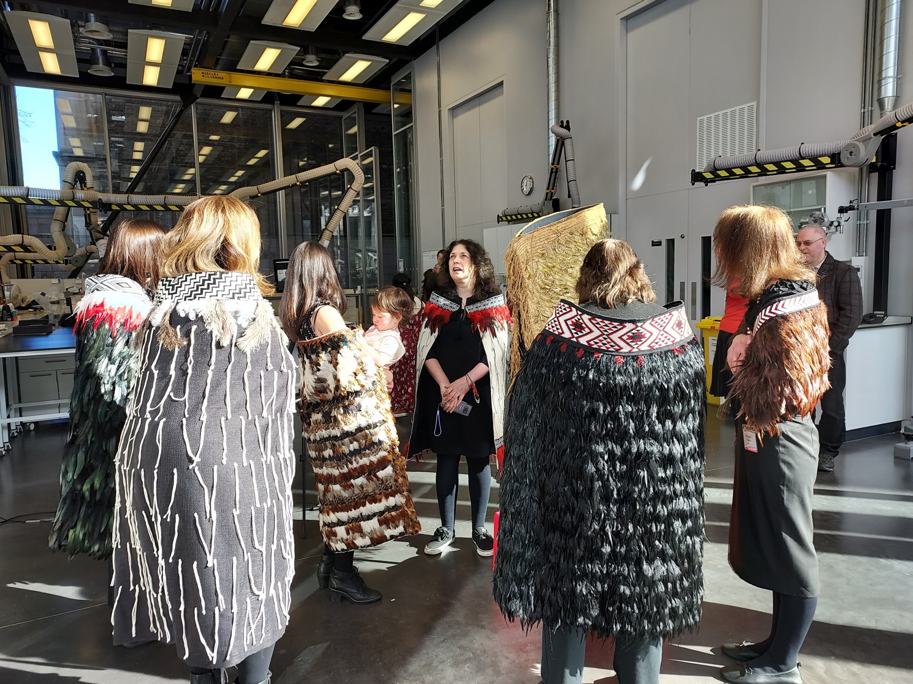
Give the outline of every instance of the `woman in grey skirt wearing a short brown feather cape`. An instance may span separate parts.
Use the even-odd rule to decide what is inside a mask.
[[[740,684],[799,684],[797,658],[820,589],[811,413],[829,387],[827,311],[781,210],[731,207],[720,215],[713,242],[717,282],[738,279],[733,291],[749,300],[727,354],[737,414],[729,565],[773,593],[770,636],[725,644],[723,653],[741,664],[720,674]]]

